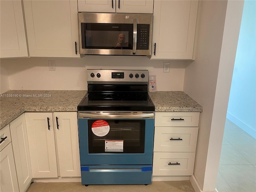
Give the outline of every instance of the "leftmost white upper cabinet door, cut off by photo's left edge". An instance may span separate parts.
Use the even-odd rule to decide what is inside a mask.
[[[1,0],[0,9],[0,58],[27,57],[21,0]]]

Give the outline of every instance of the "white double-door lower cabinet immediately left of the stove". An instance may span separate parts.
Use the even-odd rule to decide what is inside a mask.
[[[59,176],[80,176],[76,112],[27,112],[25,117],[33,178],[58,177],[58,165]]]

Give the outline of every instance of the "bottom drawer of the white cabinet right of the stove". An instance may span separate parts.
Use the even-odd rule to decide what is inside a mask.
[[[153,176],[192,175],[196,153],[154,152]]]

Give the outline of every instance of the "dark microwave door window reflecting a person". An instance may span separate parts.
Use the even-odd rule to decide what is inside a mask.
[[[133,24],[81,23],[83,49],[132,50]]]

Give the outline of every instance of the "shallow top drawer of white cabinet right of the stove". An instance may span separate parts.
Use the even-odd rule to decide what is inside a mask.
[[[156,112],[155,126],[198,127],[200,112]]]

